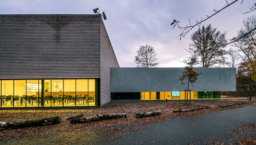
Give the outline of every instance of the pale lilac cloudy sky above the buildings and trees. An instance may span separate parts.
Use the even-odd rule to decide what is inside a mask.
[[[181,40],[182,32],[172,28],[176,19],[181,26],[195,24],[234,0],[0,0],[0,14],[94,14],[93,9],[103,11],[103,20],[120,67],[135,67],[134,57],[140,46],[148,44],[155,48],[159,67],[183,67],[181,62],[189,53],[191,34]],[[243,14],[254,5],[255,0],[240,0],[226,8],[202,25],[211,24],[227,39],[237,35],[243,20],[255,11]],[[242,3],[241,3],[242,2]],[[206,16],[207,15],[207,16]],[[226,50],[232,48],[231,45]]]

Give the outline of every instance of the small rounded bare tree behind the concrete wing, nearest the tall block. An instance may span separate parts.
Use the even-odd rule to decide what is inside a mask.
[[[137,53],[138,55],[135,56],[134,62],[138,68],[149,68],[159,65],[159,62],[157,62],[159,58],[157,57],[154,47],[147,44],[140,46]]]

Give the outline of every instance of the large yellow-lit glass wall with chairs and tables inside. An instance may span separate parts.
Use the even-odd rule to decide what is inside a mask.
[[[97,106],[97,79],[0,80],[1,107]]]

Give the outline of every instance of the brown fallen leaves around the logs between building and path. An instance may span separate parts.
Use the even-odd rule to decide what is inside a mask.
[[[231,103],[243,103],[240,100],[193,100],[191,105],[184,105],[183,100],[175,101],[111,101],[102,108],[95,109],[49,109],[49,110],[0,110],[0,121],[26,121],[59,116],[62,119],[60,124],[41,126],[41,127],[25,127],[24,129],[7,129],[0,131],[0,140],[11,140],[17,138],[37,137],[38,135],[53,135],[63,134],[61,138],[64,140],[72,140],[76,136],[81,135],[102,135],[106,139],[122,137],[123,135],[133,134],[140,130],[146,129],[148,124],[161,122],[175,117],[186,117],[189,115],[206,114],[212,111],[223,111],[226,109],[241,108],[249,105],[245,103],[241,105],[227,106],[225,108],[219,105],[228,105]],[[199,106],[210,106],[209,109],[200,109],[191,112],[173,113],[177,109],[194,109]],[[161,111],[161,115],[144,117],[136,119],[137,112]],[[90,117],[96,114],[117,114],[126,113],[127,118],[117,118],[114,120],[102,120],[96,122],[70,124],[67,118],[74,117],[77,114],[84,114],[85,117]],[[87,132],[88,130],[88,132]],[[90,130],[90,131],[89,131]],[[73,132],[72,134],[70,132]],[[107,132],[102,134],[102,132]],[[67,134],[67,135],[65,135]],[[91,140],[91,138],[81,138],[77,141]],[[59,139],[59,140],[62,140]],[[251,139],[250,139],[251,140]],[[247,142],[250,141],[246,140]],[[242,142],[243,140],[241,140]],[[244,141],[244,142],[246,142]],[[243,142],[243,143],[244,143]],[[68,144],[69,142],[67,142]]]

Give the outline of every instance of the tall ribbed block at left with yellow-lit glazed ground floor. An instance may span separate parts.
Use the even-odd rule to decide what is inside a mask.
[[[0,15],[1,108],[101,106],[119,67],[99,14]]]

